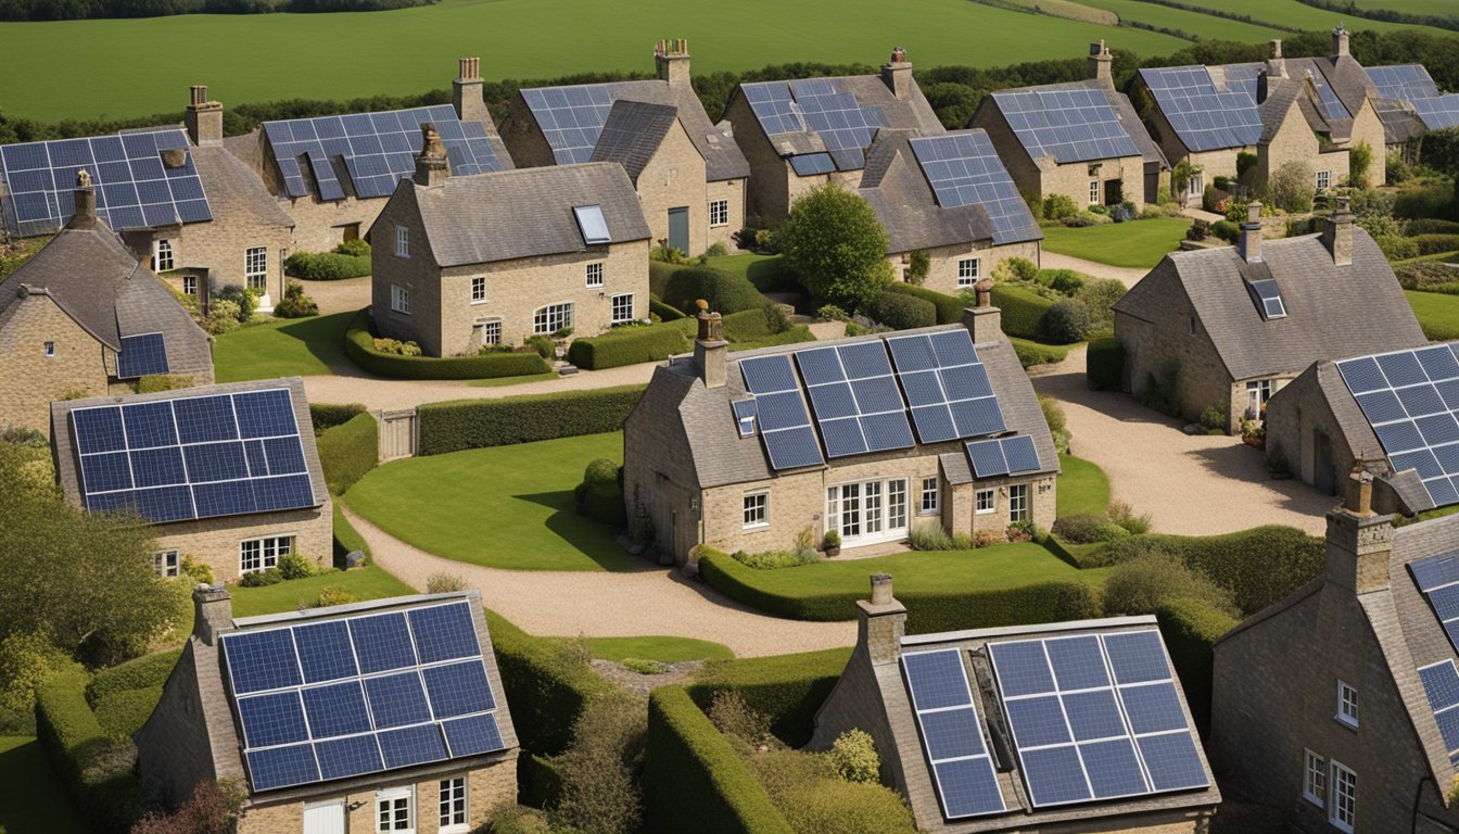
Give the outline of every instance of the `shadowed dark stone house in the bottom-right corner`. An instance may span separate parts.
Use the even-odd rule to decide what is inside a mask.
[[[1371,498],[1352,475],[1322,575],[1215,643],[1211,764],[1284,830],[1455,831],[1459,516],[1395,530]]]

